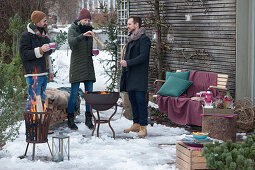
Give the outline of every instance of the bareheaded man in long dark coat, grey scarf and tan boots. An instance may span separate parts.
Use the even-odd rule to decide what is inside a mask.
[[[138,132],[139,137],[147,135],[148,110],[146,92],[148,89],[148,67],[151,41],[141,28],[140,17],[130,17],[127,28],[130,33],[125,57],[120,61],[122,68],[120,91],[127,91],[133,112],[133,125],[125,129]]]

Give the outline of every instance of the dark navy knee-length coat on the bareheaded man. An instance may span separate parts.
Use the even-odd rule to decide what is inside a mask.
[[[145,34],[127,44],[127,67],[122,67],[120,91],[147,91],[150,47],[151,41]]]

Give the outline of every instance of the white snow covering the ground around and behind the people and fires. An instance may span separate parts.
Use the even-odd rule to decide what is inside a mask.
[[[68,55],[67,55],[68,54]],[[68,82],[69,62],[71,51],[57,50],[53,55],[55,59],[54,70],[57,70],[55,82],[48,84],[49,87],[70,87]],[[94,90],[104,90],[106,78],[102,75],[103,67],[98,59],[107,57],[106,52],[100,52],[94,56],[97,82]],[[81,85],[84,89],[84,86]],[[35,161],[31,161],[32,145],[28,149],[28,157],[19,159],[26,149],[25,124],[22,121],[19,137],[8,142],[0,151],[0,170],[23,170],[23,169],[43,169],[43,170],[81,170],[81,169],[109,169],[109,170],[165,170],[175,169],[175,143],[182,139],[189,132],[181,128],[171,128],[154,124],[148,126],[148,136],[143,139],[137,137],[137,133],[123,133],[123,129],[132,125],[132,121],[122,116],[122,108],[118,107],[117,114],[111,122],[116,133],[116,139],[112,138],[112,131],[107,124],[100,126],[100,137],[91,136],[84,124],[85,102],[81,103],[81,115],[76,118],[78,130],[72,131],[66,126],[55,129],[55,134],[59,131],[70,136],[70,160],[63,162],[53,162],[47,144],[37,144]],[[102,112],[102,117],[109,117],[113,110]],[[96,132],[95,132],[96,134]],[[49,135],[51,145],[52,136]]]

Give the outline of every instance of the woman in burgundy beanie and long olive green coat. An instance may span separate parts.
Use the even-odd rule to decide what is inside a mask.
[[[68,127],[77,130],[74,123],[75,103],[78,96],[80,82],[84,83],[85,91],[93,90],[93,83],[96,81],[92,59],[93,36],[90,25],[90,12],[83,8],[79,17],[68,30],[68,43],[72,50],[69,80],[71,83],[71,94],[68,101]],[[89,105],[86,105],[86,122],[89,129],[93,129]]]

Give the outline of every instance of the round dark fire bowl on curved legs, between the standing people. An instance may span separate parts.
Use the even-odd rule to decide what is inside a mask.
[[[119,93],[118,92],[99,92],[99,91],[95,91],[95,92],[85,92],[84,94],[84,98],[86,101],[86,104],[90,105],[90,113],[92,114],[93,118],[94,118],[94,129],[92,131],[92,136],[94,135],[94,131],[96,129],[96,125],[97,125],[97,137],[99,137],[99,127],[100,127],[100,123],[108,123],[109,127],[112,130],[113,133],[113,138],[115,139],[115,132],[110,124],[110,121],[112,119],[112,117],[116,114],[117,112],[117,101],[119,99]],[[115,111],[114,113],[110,116],[110,118],[108,120],[101,120],[100,119],[100,115],[99,115],[99,111],[105,111],[108,110],[110,108],[112,108],[113,106],[115,106]],[[97,118],[94,116],[92,109],[97,111]]]

